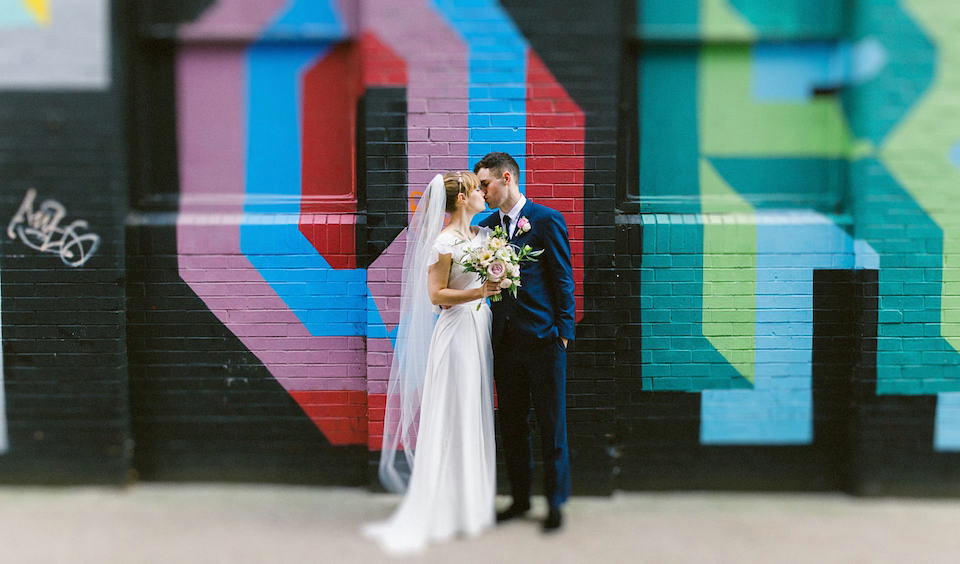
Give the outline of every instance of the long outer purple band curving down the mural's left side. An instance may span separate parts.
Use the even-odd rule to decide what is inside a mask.
[[[200,20],[183,26],[180,36],[215,39],[239,34],[252,40],[287,3],[221,0]],[[285,389],[364,390],[363,337],[310,335],[240,252],[247,136],[245,50],[181,49],[177,85],[180,277]],[[329,356],[333,353],[336,359]]]

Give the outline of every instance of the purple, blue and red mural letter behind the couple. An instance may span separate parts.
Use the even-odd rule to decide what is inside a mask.
[[[213,4],[179,35],[237,25],[232,5]],[[406,214],[364,225],[358,206],[367,221],[391,198],[406,209],[437,170],[513,151],[522,190],[567,218],[582,317],[584,118],[496,2],[364,2],[361,29],[355,8],[261,3],[239,22],[259,30],[243,49],[181,51],[177,244],[183,280],[331,443],[375,448],[397,324],[403,249],[393,239]],[[495,49],[475,39],[490,22]],[[309,30],[308,41],[285,42],[291,29]],[[502,49],[509,62],[491,68]],[[369,179],[398,171],[371,160],[368,140],[359,182],[355,149],[366,133],[358,117],[384,119],[358,108],[380,103],[405,110],[403,138],[385,144],[387,166],[405,157],[386,199],[371,197]]]

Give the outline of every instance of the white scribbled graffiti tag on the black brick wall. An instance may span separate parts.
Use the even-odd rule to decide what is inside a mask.
[[[63,264],[72,267],[83,266],[100,246],[100,236],[96,233],[81,233],[86,230],[87,222],[82,219],[72,221],[66,227],[60,222],[67,215],[67,209],[56,200],[44,200],[40,208],[34,210],[33,203],[37,191],[27,190],[20,209],[7,226],[7,236],[19,238],[31,249],[60,256]]]

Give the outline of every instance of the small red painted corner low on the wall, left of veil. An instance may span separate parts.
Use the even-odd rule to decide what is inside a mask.
[[[367,443],[366,392],[292,390],[290,397],[296,400],[330,444],[344,446]]]

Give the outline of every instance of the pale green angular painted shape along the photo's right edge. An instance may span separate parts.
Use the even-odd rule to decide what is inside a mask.
[[[937,74],[880,157],[943,232],[940,333],[960,351],[960,169],[949,157],[960,141],[960,10],[955,0],[905,1],[903,9],[933,38]]]

